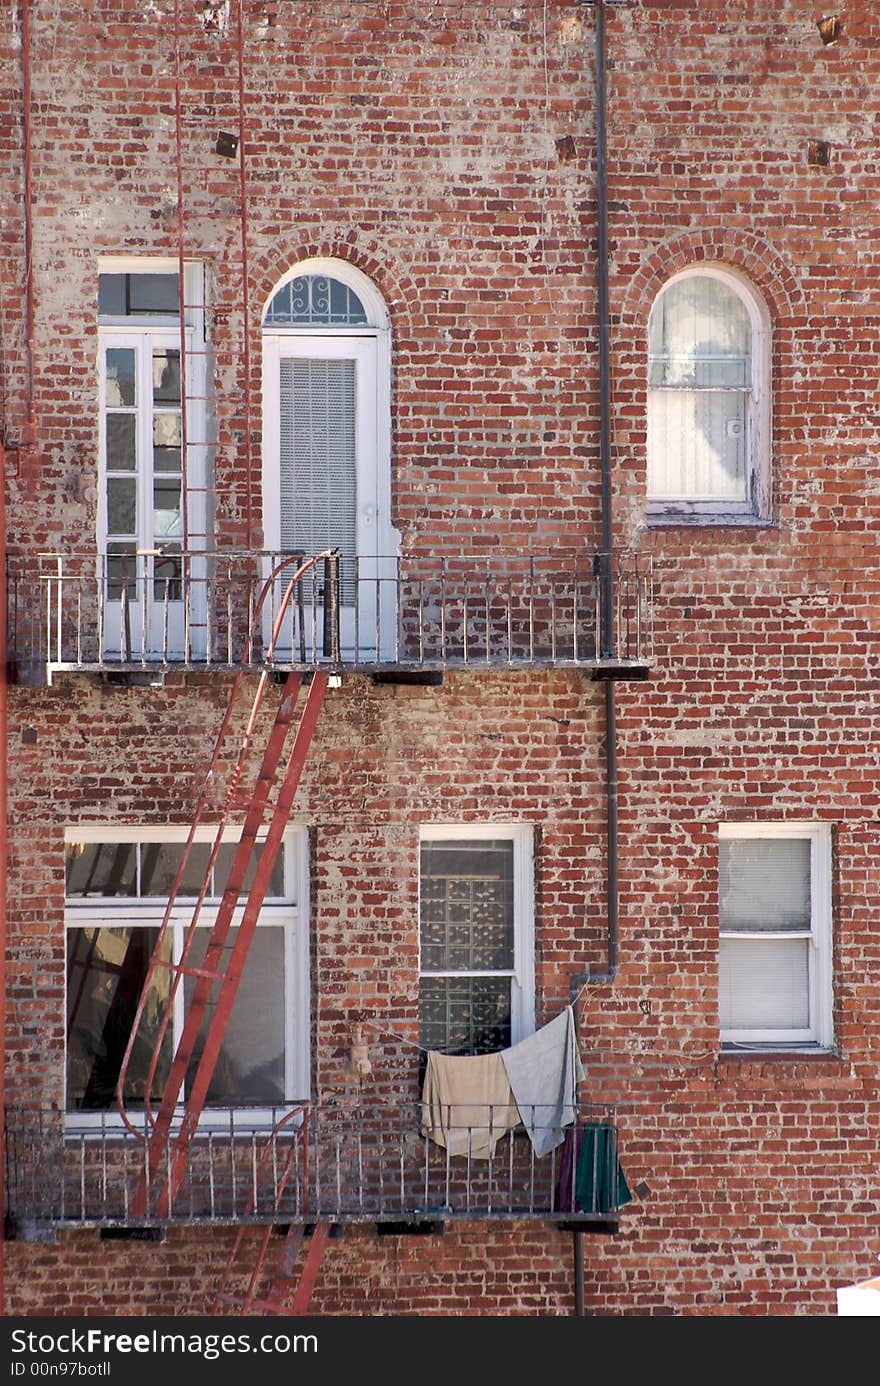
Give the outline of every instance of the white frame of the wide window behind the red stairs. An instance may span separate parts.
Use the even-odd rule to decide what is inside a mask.
[[[197,827],[194,841],[213,843],[216,839],[215,826]],[[65,827],[65,847],[71,843],[184,843],[190,833],[188,827],[176,826],[132,826],[86,823]],[[258,834],[258,840],[265,837],[265,830]],[[223,841],[236,843],[241,839],[241,827],[229,826],[223,829]],[[301,825],[291,825],[283,836],[284,851],[284,894],[281,897],[267,895],[261,908],[256,923],[272,924],[284,929],[284,1099],[277,1106],[285,1106],[297,1100],[308,1100],[310,1095],[310,977],[309,977],[309,845],[308,830]],[[162,923],[166,897],[78,897],[65,898],[64,931],[65,956],[67,936],[71,929],[122,929],[130,924],[157,927]],[[175,904],[169,927],[175,931],[175,956],[179,956],[180,940],[187,924],[193,919],[195,900],[191,895],[179,897]],[[245,895],[243,894],[233,913],[233,927],[240,922],[244,912]],[[218,901],[205,901],[201,908],[197,927],[209,927],[216,916]],[[67,1015],[67,966],[65,966],[65,1006]],[[177,987],[175,997],[175,1010],[172,1034],[176,1045],[184,1023],[184,994],[183,987]],[[79,1112],[67,1110],[67,1049],[65,1049],[65,1124],[68,1130],[89,1131],[108,1130],[122,1125],[122,1117],[115,1106],[108,1110]],[[277,1106],[248,1106],[248,1123],[255,1127],[270,1127],[277,1120]],[[184,1102],[179,1102],[183,1113]],[[137,1110],[137,1109],[134,1109]],[[233,1109],[205,1107],[200,1125],[209,1130],[216,1125],[229,1128],[229,1113]]]

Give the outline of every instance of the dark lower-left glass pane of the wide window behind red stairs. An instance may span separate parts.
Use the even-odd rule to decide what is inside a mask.
[[[68,929],[67,1106],[71,1112],[115,1106],[122,1059],[132,1033],[157,930]],[[125,1096],[143,1102],[147,1073],[169,994],[170,973],[154,974],[127,1066]],[[170,1066],[172,1035],[165,1033],[152,1098],[161,1096]]]

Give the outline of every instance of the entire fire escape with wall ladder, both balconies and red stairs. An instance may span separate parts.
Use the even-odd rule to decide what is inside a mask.
[[[157,683],[169,672],[198,669],[230,674],[231,690],[132,1026],[116,1088],[119,1120],[79,1139],[69,1132],[58,1139],[57,1113],[18,1127],[11,1120],[10,1211],[22,1236],[39,1236],[40,1228],[51,1225],[234,1225],[218,1311],[231,1306],[241,1313],[303,1314],[331,1231],[345,1221],[394,1229],[414,1222],[439,1228],[450,1216],[539,1217],[558,1225],[615,1229],[614,1196],[596,1202],[592,1211],[572,1213],[572,1203],[560,1200],[556,1160],[546,1170],[538,1168],[513,1137],[499,1145],[486,1167],[467,1159],[463,1168],[449,1157],[438,1157],[430,1142],[417,1137],[414,1110],[398,1109],[391,1120],[377,1112],[356,1131],[346,1128],[344,1112],[323,1114],[309,1103],[274,1113],[269,1131],[249,1128],[247,1121],[236,1124],[234,1112],[229,1127],[219,1131],[216,1123],[205,1124],[204,1116],[248,947],[330,683],[352,672],[377,682],[438,683],[448,671],[459,669],[574,668],[604,682],[611,697],[614,681],[642,679],[650,671],[651,574],[637,556],[611,553],[607,527],[595,554],[398,556],[378,574],[355,572],[346,600],[355,608],[369,603],[373,629],[362,642],[358,632],[363,622],[356,620],[353,642],[346,644],[340,633],[338,553],[277,559],[251,549],[249,488],[255,470],[248,389],[244,3],[233,3],[229,26],[222,25],[222,8],[205,12],[218,17],[218,53],[223,51],[236,73],[230,83],[236,101],[234,109],[230,105],[226,112],[231,130],[219,134],[208,130],[208,122],[216,118],[213,109],[205,114],[187,108],[186,24],[175,3],[183,543],[175,549],[173,577],[165,579],[165,614],[152,631],[147,631],[146,621],[139,629],[130,620],[129,585],[123,582],[116,589],[119,628],[108,639],[104,613],[114,578],[107,565],[96,565],[93,554],[46,554],[36,584],[32,571],[17,571],[11,563],[8,590],[11,653],[21,682],[51,682],[64,674]],[[209,166],[193,168],[191,151],[198,147],[211,150]],[[241,301],[212,309],[200,305],[205,331],[187,335],[193,308],[186,301],[187,266],[197,258],[187,240],[187,207],[193,188],[204,194],[216,180],[218,159],[226,161],[226,179],[237,197],[236,279]],[[216,342],[230,322],[241,323],[243,396],[237,407],[225,402],[216,439],[188,437],[193,383],[211,377]],[[191,513],[201,510],[188,484],[188,459],[209,445],[218,456],[231,456],[238,446],[236,432],[243,439],[240,462],[248,478],[247,539],[244,552],[225,553],[209,547],[206,532],[193,529]],[[155,584],[158,571],[146,560],[168,556],[139,557],[144,567],[136,582],[144,584],[146,595],[146,585]],[[179,628],[168,614],[172,596],[184,610]],[[252,685],[243,718],[241,707]],[[269,707],[274,712],[267,712]],[[236,732],[241,722],[243,729]],[[219,768],[230,758],[233,769],[218,814]],[[205,952],[195,962],[190,945],[223,829],[233,819],[241,823],[241,834]],[[182,954],[172,960],[166,931],[179,904],[190,847],[204,823],[216,827],[216,837]],[[170,976],[168,1006],[148,1067],[143,1110],[132,1112],[125,1099],[126,1070],[150,983],[161,972]],[[159,1082],[159,1058],[179,994],[186,997],[186,1019]],[[610,1110],[588,1109],[583,1117],[614,1132]],[[607,1171],[597,1167],[596,1186],[606,1178]],[[280,1232],[284,1240],[279,1253],[273,1239],[277,1242]],[[274,1268],[266,1285],[269,1260]]]

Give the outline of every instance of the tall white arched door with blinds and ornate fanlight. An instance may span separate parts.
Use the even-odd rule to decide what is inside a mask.
[[[263,532],[270,556],[338,549],[344,654],[388,654],[391,333],[381,295],[344,261],[297,265],[263,313]]]

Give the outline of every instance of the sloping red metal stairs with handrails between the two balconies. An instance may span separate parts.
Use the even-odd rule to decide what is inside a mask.
[[[302,577],[315,564],[324,560],[335,559],[335,550],[324,552],[308,559],[305,563],[299,557],[284,559],[279,563],[266,582],[263,584],[259,600],[256,602],[254,611],[255,624],[259,621],[262,607],[273,590],[280,574],[288,568],[291,564],[298,563],[299,565],[290,578],[284,595],[279,603],[279,611],[274,618],[272,639],[266,650],[266,663],[272,661],[273,650],[281,624],[290,606],[292,593],[297,585],[302,581]],[[338,651],[335,651],[338,653]],[[133,1217],[146,1217],[152,1214],[157,1217],[170,1216],[175,1193],[179,1189],[180,1181],[186,1171],[187,1150],[188,1143],[198,1127],[198,1121],[202,1114],[205,1099],[208,1095],[208,1088],[213,1070],[216,1066],[218,1056],[220,1053],[220,1046],[223,1044],[223,1037],[231,1015],[231,1009],[236,1001],[236,994],[238,990],[238,983],[244,972],[244,965],[247,962],[248,949],[254,938],[254,931],[256,929],[256,922],[259,919],[259,912],[263,905],[266,890],[272,879],[272,870],[277,859],[281,840],[287,823],[290,821],[290,812],[292,808],[294,797],[299,784],[308,750],[312,742],[312,735],[317,723],[317,717],[323,705],[324,694],[328,683],[328,674],[324,669],[315,669],[312,674],[312,682],[308,689],[305,699],[305,705],[299,715],[297,723],[297,730],[294,735],[292,744],[287,755],[287,762],[281,775],[280,784],[276,791],[274,808],[269,819],[269,827],[266,830],[265,841],[254,872],[254,879],[251,883],[249,893],[244,905],[244,912],[238,922],[238,931],[231,948],[226,947],[229,931],[233,923],[233,915],[238,908],[240,897],[243,893],[244,881],[251,865],[251,858],[254,855],[254,848],[256,844],[258,833],[263,826],[263,819],[269,807],[269,797],[276,786],[279,765],[281,764],[281,757],[284,754],[284,746],[288,739],[288,732],[294,722],[294,711],[297,707],[299,689],[302,685],[302,675],[291,672],[287,675],[284,685],[284,692],[279,703],[279,708],[274,717],[274,722],[269,732],[269,737],[265,746],[262,762],[259,766],[259,773],[254,784],[254,790],[247,801],[244,823],[241,827],[241,836],[233,855],[233,862],[229,872],[229,879],[223,890],[220,905],[218,908],[213,924],[211,926],[208,945],[205,949],[205,956],[201,966],[190,966],[187,959],[190,954],[191,944],[195,936],[195,927],[198,924],[202,905],[208,891],[211,888],[211,875],[213,863],[223,840],[223,830],[229,822],[230,814],[238,801],[238,786],[241,783],[248,757],[252,750],[254,735],[258,721],[258,714],[263,701],[263,694],[270,678],[267,668],[259,676],[258,687],[254,694],[254,701],[251,705],[251,712],[247,721],[245,730],[241,736],[241,743],[238,748],[238,757],[233,772],[229,779],[229,789],[226,793],[226,801],[223,812],[216,823],[216,833],[208,865],[205,868],[205,876],[202,886],[200,888],[190,923],[187,924],[186,936],[183,940],[180,958],[166,956],[165,940],[168,936],[168,929],[172,919],[172,912],[175,902],[180,890],[180,884],[186,872],[187,859],[190,850],[195,840],[197,829],[202,822],[205,812],[211,804],[211,790],[213,787],[213,780],[216,772],[220,766],[223,746],[229,737],[229,730],[231,726],[233,712],[238,703],[241,694],[241,686],[244,679],[244,671],[238,671],[230,692],[227,708],[218,733],[213,755],[211,760],[211,766],[202,790],[200,793],[195,814],[187,840],[182,852],[182,859],[175,875],[172,890],[168,897],[165,906],[165,913],[162,923],[158,930],[154,951],[146,972],[144,985],[141,990],[140,1002],[134,1013],[132,1023],[132,1031],[126,1045],[126,1051],[119,1069],[119,1078],[116,1082],[116,1105],[126,1128],[133,1134],[146,1141],[146,1163],[144,1171],[140,1177],[139,1185],[134,1189],[130,1211]],[[172,981],[169,992],[165,1001],[165,1009],[161,1021],[157,1027],[155,1044],[152,1049],[151,1062],[147,1070],[146,1089],[144,1089],[144,1113],[139,1113],[139,1124],[136,1124],[127,1113],[126,1109],[126,1076],[137,1038],[139,1027],[147,1006],[147,999],[150,994],[150,987],[157,972],[166,970],[172,974]],[[158,1107],[152,1110],[152,1092],[157,1078],[157,1070],[159,1064],[159,1058],[162,1053],[162,1046],[168,1027],[172,1023],[173,1006],[184,977],[194,979],[193,994],[188,1001],[187,1012],[184,1016],[184,1023],[182,1034],[170,1063],[170,1071],[165,1087],[162,1089]],[[212,995],[218,984],[216,997]],[[200,1034],[202,1033],[202,1024],[208,1017],[208,1024],[204,1034],[204,1044],[201,1053],[197,1059],[194,1070],[191,1070],[193,1059],[195,1055],[197,1042]],[[190,1076],[190,1089],[186,1096],[183,1107],[180,1107],[180,1095],[184,1087],[184,1081]],[[144,1119],[146,1127],[144,1130]]]

